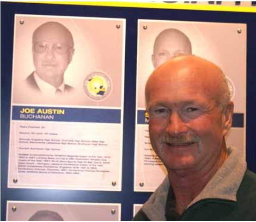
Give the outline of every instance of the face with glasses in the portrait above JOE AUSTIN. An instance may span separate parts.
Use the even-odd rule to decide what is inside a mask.
[[[33,39],[33,60],[38,76],[46,82],[62,78],[71,62],[73,45],[66,31],[53,26],[41,28]]]

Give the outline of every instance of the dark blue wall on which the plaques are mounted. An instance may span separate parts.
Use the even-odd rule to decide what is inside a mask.
[[[126,19],[122,192],[7,189],[13,26],[16,13]],[[6,220],[6,200],[121,203],[122,220],[131,220],[133,204],[142,204],[148,199],[151,193],[133,191],[138,19],[247,23],[246,158],[248,168],[256,172],[256,13],[1,2],[1,221]]]

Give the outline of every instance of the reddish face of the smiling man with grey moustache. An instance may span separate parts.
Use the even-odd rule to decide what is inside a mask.
[[[227,133],[214,81],[181,67],[158,74],[149,86],[150,139],[167,170],[205,166],[219,155]]]

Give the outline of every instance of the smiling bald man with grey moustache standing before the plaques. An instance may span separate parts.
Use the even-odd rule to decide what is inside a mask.
[[[152,147],[168,176],[134,220],[256,220],[256,175],[226,147],[234,105],[219,67],[172,58],[154,70],[145,95]]]

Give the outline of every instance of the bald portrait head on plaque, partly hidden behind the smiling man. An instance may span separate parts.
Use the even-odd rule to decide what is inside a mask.
[[[192,54],[188,36],[178,29],[165,29],[160,32],[154,42],[153,50],[151,58],[154,68],[179,54]]]

